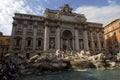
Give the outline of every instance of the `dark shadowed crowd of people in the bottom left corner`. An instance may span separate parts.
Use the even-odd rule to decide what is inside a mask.
[[[18,72],[18,64],[0,61],[0,80],[15,80]]]

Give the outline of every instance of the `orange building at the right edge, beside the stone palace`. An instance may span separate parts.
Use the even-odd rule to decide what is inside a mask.
[[[104,27],[107,49],[110,53],[120,52],[120,18]]]

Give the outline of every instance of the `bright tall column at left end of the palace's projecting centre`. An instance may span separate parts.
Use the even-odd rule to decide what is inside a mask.
[[[45,25],[44,29],[44,51],[49,49],[49,28]]]

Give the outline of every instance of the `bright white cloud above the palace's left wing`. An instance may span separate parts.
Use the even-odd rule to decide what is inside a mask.
[[[11,34],[12,17],[14,13],[37,14],[38,11],[41,11],[40,9],[42,9],[42,7],[34,11],[25,1],[26,0],[0,0],[0,32],[3,32],[4,35]],[[38,14],[40,14],[40,12]]]

